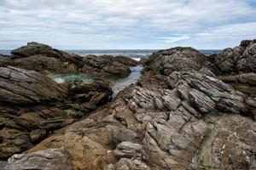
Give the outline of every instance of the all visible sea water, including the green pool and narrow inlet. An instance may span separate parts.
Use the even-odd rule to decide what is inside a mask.
[[[125,55],[127,57],[131,57],[133,59],[143,59],[147,58],[150,54],[158,51],[156,49],[115,49],[115,50],[63,50],[69,54],[79,54],[81,56],[86,56],[88,54],[94,54],[97,56],[107,54],[107,55]],[[202,54],[210,55],[210,54],[218,54],[220,50],[199,50]],[[10,54],[10,50],[0,50],[0,54]],[[128,77],[108,77],[106,81],[112,84],[113,88],[113,97],[119,93],[120,90],[128,87],[131,83],[136,83],[139,77],[141,76],[142,66],[138,65],[135,67],[131,67],[131,74]],[[53,79],[55,82],[79,82],[79,83],[90,83],[96,82],[97,79],[88,77],[84,74],[76,74],[76,75],[61,75],[61,74],[50,74],[47,75],[49,78]],[[104,79],[105,80],[105,79]]]

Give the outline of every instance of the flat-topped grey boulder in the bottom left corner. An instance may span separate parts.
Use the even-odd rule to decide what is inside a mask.
[[[73,170],[67,150],[49,149],[40,150],[29,154],[15,154],[10,157],[3,170],[23,170],[23,169],[42,169],[42,170]]]

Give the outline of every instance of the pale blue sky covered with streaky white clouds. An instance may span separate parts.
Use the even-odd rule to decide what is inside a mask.
[[[0,0],[0,49],[219,49],[253,38],[256,0]]]

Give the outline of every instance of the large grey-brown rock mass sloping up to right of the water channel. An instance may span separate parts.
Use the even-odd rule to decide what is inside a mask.
[[[193,48],[155,53],[137,84],[26,153],[63,146],[74,169],[254,169],[255,94],[232,84],[253,88],[254,71],[223,82],[214,65]]]

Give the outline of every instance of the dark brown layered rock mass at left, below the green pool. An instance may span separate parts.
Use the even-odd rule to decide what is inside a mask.
[[[36,71],[0,67],[0,158],[31,148],[111,95],[104,82],[57,84]]]

